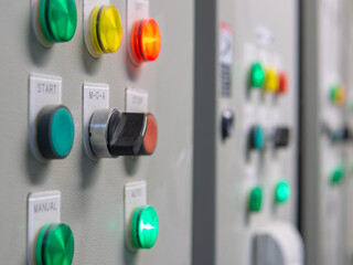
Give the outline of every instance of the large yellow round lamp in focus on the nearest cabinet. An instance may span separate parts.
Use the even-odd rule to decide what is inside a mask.
[[[98,6],[90,15],[90,38],[95,52],[115,53],[122,39],[121,18],[115,6]]]

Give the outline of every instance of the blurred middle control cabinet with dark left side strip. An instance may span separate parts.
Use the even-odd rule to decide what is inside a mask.
[[[201,40],[207,33],[195,40],[194,197],[208,209],[194,202],[194,264],[303,264],[297,229],[299,2],[199,2],[196,28],[203,24],[215,38],[203,51],[206,59]],[[216,15],[201,13],[207,8]],[[207,123],[213,128],[197,140]],[[199,250],[212,236],[215,243]]]

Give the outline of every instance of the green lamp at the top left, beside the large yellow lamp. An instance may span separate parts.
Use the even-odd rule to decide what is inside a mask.
[[[67,42],[76,31],[77,12],[75,0],[41,0],[39,7],[40,28],[51,42]]]

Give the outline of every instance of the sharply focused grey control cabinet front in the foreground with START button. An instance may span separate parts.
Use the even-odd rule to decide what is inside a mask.
[[[191,264],[194,2],[2,8],[1,264]]]

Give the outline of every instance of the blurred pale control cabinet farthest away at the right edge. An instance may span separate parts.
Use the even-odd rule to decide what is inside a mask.
[[[302,1],[301,231],[307,264],[346,263],[350,1]]]

